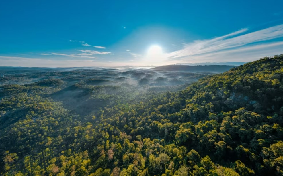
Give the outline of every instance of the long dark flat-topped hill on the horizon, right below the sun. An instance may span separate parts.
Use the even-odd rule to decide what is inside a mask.
[[[189,71],[189,72],[225,72],[230,70],[233,67],[231,65],[197,65],[197,66],[188,66],[188,65],[165,65],[153,68],[153,70],[173,70],[173,71]]]

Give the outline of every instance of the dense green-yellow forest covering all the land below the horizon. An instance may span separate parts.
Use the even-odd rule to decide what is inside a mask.
[[[8,73],[1,175],[283,175],[283,54],[220,74]]]

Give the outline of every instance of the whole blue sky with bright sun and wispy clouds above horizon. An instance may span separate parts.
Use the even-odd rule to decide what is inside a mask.
[[[0,66],[250,62],[283,53],[282,0],[0,1]]]

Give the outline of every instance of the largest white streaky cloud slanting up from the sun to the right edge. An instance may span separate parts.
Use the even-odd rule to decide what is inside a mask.
[[[176,59],[180,57],[204,56],[204,54],[208,53],[217,54],[224,50],[231,52],[231,50],[237,50],[240,47],[248,47],[251,44],[255,45],[259,42],[283,37],[283,25],[277,25],[251,33],[246,33],[247,31],[248,29],[241,29],[209,40],[196,40],[192,43],[185,44],[183,49],[166,54],[166,56],[169,59]]]

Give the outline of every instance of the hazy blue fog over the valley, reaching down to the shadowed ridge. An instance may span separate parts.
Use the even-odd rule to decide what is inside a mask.
[[[115,103],[138,101],[147,93],[177,91],[214,74],[153,68],[0,68],[0,99],[17,93],[62,102],[87,115]],[[203,68],[201,68],[203,70]]]

